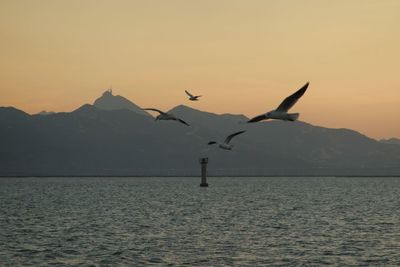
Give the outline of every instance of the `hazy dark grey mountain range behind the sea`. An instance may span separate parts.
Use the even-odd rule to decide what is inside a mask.
[[[46,116],[0,108],[0,175],[197,175],[204,156],[211,175],[400,174],[399,145],[352,130],[171,109],[187,127],[155,122],[127,101],[106,92],[94,105]],[[247,132],[232,151],[207,146],[238,130]]]

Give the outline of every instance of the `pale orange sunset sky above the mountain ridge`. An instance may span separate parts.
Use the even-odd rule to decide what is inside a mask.
[[[71,111],[112,85],[140,106],[254,116],[310,81],[301,120],[400,137],[399,14],[397,0],[0,0],[0,106]]]

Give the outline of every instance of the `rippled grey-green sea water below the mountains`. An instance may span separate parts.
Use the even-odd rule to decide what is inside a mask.
[[[0,179],[0,265],[400,265],[400,178],[199,182]]]

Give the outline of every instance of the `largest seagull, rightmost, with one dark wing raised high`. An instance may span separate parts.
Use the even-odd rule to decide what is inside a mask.
[[[304,95],[306,92],[308,85],[310,83],[306,83],[303,87],[301,87],[299,90],[297,90],[294,94],[288,96],[285,98],[285,100],[282,101],[282,103],[279,105],[279,107],[275,110],[271,110],[265,114],[256,116],[252,118],[251,120],[248,121],[248,123],[251,122],[258,122],[262,120],[268,120],[268,119],[276,119],[276,120],[283,120],[283,121],[295,121],[299,118],[299,113],[288,113],[289,109],[296,104],[296,102]]]

